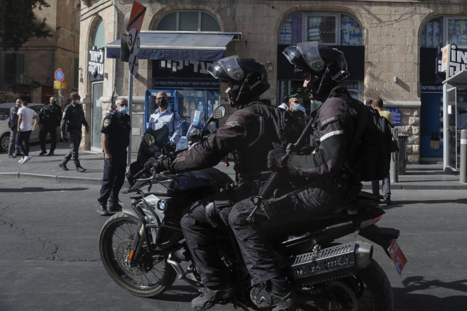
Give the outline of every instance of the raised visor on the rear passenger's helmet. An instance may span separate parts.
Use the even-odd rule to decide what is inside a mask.
[[[324,61],[318,50],[317,41],[308,41],[294,44],[284,50],[288,61],[296,67],[315,72],[321,72],[324,68]]]

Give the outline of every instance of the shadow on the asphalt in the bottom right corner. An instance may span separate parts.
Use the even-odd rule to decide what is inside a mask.
[[[465,311],[467,296],[465,294],[449,297],[436,297],[429,294],[418,294],[427,289],[447,288],[467,293],[467,279],[454,282],[443,282],[437,279],[425,280],[423,276],[410,276],[402,281],[404,288],[393,288],[395,310],[399,311]],[[417,294],[412,292],[418,292]],[[413,307],[409,307],[413,306]]]

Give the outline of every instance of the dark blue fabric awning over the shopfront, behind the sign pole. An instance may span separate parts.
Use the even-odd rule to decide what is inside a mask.
[[[142,31],[139,59],[217,60],[240,33]],[[120,39],[106,44],[107,58],[120,58]]]

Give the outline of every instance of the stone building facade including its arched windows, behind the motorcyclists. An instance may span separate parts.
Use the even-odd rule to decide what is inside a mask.
[[[465,1],[140,0],[139,2],[147,7],[142,30],[164,29],[161,25],[165,25],[169,17],[175,18],[175,15],[170,15],[174,12],[182,12],[177,14],[202,12],[216,19],[221,32],[240,32],[241,40],[230,42],[225,55],[238,54],[242,58],[254,58],[265,64],[271,87],[263,97],[271,99],[276,104],[280,104],[282,95],[300,91],[300,77],[291,76],[286,72],[290,68],[284,63],[281,55],[284,46],[292,42],[318,38],[322,42],[342,49],[349,63],[349,70],[353,70],[350,70],[351,76],[347,83],[353,94],[362,101],[380,97],[387,108],[400,116],[400,125],[396,127],[399,134],[408,135],[408,162],[418,163],[421,158],[422,160],[438,158],[437,151],[430,150],[430,146],[425,148],[424,145],[427,139],[425,132],[431,132],[431,137],[434,137],[433,133],[436,131],[427,124],[428,117],[424,124],[424,114],[427,115],[428,112],[424,112],[422,88],[427,83],[432,83],[436,87],[440,85],[438,78],[431,77],[431,75],[435,76],[436,43],[443,46],[453,35],[459,35],[458,39],[455,39],[459,41],[457,44],[461,47],[465,44],[467,47],[463,37],[467,35],[467,26],[466,29],[459,31],[451,29],[451,24],[456,25],[457,21],[459,25],[464,25],[464,19],[467,18]],[[131,5],[132,1],[123,0],[82,1],[80,68],[88,66],[88,51],[92,49],[96,25],[102,21],[106,44],[119,39],[120,33],[126,32],[124,17],[131,10]],[[445,23],[443,28],[445,33],[439,34],[440,26],[436,24],[438,19],[441,23]],[[187,19],[173,20],[179,22],[177,28],[180,26],[181,29],[183,25],[180,24],[180,20],[184,22]],[[451,23],[452,20],[454,21]],[[427,44],[428,41],[430,44]],[[142,119],[144,95],[146,90],[155,89],[158,85],[158,73],[154,72],[158,67],[155,62],[157,61],[140,60],[138,75],[133,82],[133,111],[137,114],[133,118],[134,129],[144,128]],[[93,99],[95,85],[90,81],[90,75],[86,70],[79,83],[79,92],[86,104],[87,117],[91,117],[93,109],[99,110],[95,114],[96,121],[93,125],[95,127],[99,125],[97,120],[102,119],[108,112],[112,95],[114,99],[117,96],[128,95],[127,63],[106,58],[103,68],[104,75],[100,80],[102,94],[98,99],[95,96]],[[429,70],[430,78],[424,73],[426,70]],[[225,99],[222,87],[218,89],[219,103],[223,103]],[[313,108],[315,104],[310,103],[308,108]],[[232,110],[228,109],[228,112],[231,113]],[[433,118],[438,117],[435,115]],[[138,140],[139,134],[141,130],[134,131],[133,140]],[[95,134],[91,135],[98,135],[98,131],[95,130]],[[441,134],[440,136],[442,137]],[[428,139],[430,140],[430,137]],[[87,135],[84,139],[84,148],[90,149],[91,144],[91,137]],[[136,145],[133,144],[133,150],[135,148]],[[427,150],[424,151],[425,154],[421,153],[425,149]]]

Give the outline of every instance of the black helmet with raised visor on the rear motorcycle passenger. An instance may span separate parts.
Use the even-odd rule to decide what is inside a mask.
[[[349,76],[344,54],[316,41],[292,44],[284,52],[295,72],[310,72],[306,92],[310,99],[324,100],[332,88]]]

